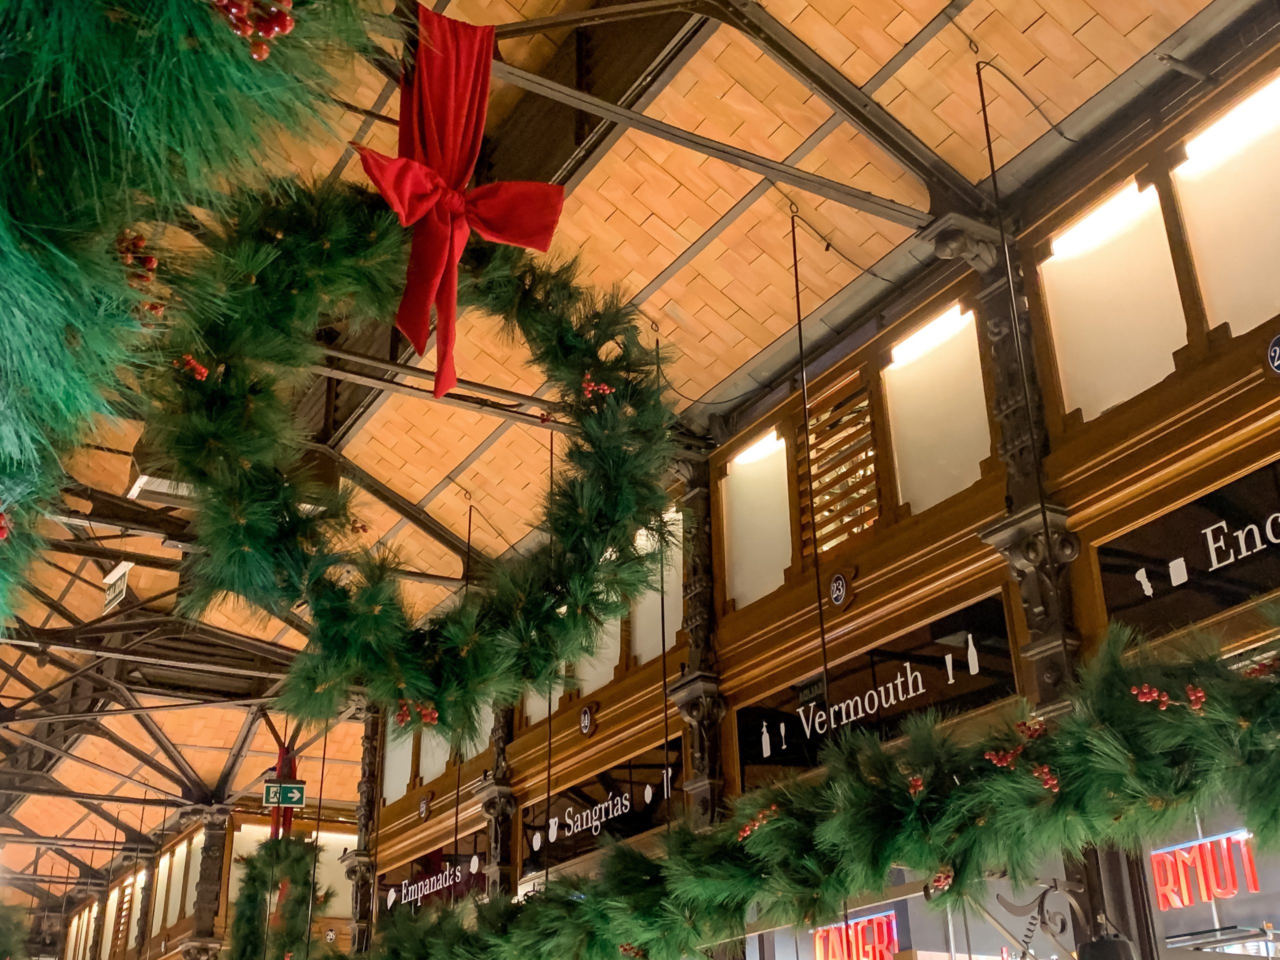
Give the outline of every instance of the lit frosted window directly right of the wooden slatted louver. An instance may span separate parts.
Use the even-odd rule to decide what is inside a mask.
[[[923,513],[975,483],[991,456],[973,314],[952,306],[892,349],[884,399],[901,503]]]

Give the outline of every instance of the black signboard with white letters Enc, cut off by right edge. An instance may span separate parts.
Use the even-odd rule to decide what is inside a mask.
[[[1107,614],[1158,636],[1280,588],[1280,465],[1098,547]]]

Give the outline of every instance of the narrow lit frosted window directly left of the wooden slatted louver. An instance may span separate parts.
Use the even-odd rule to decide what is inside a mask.
[[[787,448],[771,430],[728,463],[724,502],[724,572],[741,609],[782,586],[791,564]]]

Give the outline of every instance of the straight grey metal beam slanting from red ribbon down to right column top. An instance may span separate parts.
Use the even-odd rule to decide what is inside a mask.
[[[613,120],[623,127],[643,131],[669,143],[695,150],[699,154],[713,156],[735,166],[741,166],[745,170],[753,170],[776,183],[787,183],[792,187],[799,187],[815,196],[835,200],[837,204],[844,204],[854,210],[861,210],[891,223],[901,224],[902,227],[919,230],[933,221],[929,214],[922,212],[906,204],[900,204],[896,200],[878,197],[874,193],[819,177],[815,173],[780,164],[776,160],[769,160],[741,147],[730,146],[728,143],[721,143],[719,141],[682,131],[678,127],[672,127],[669,123],[662,123],[635,110],[614,106],[607,100],[600,100],[590,93],[582,93],[581,91],[572,90],[509,64],[494,60],[493,76],[532,93],[576,106],[580,110],[586,110],[596,116]]]

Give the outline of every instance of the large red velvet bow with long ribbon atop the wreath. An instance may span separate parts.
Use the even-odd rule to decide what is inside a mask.
[[[404,227],[413,227],[396,325],[421,355],[435,305],[435,396],[457,384],[453,339],[458,260],[474,229],[488,241],[545,251],[564,188],[515,180],[466,189],[489,106],[493,27],[419,6],[417,68],[401,90],[399,156],[352,143],[369,179]]]

